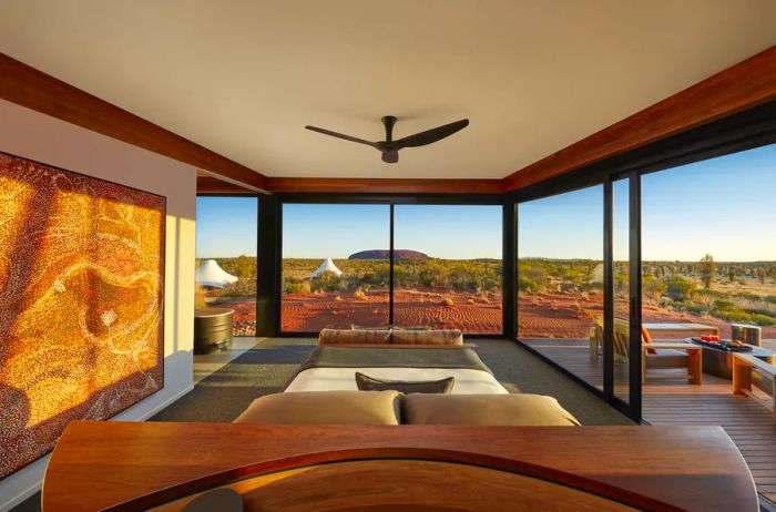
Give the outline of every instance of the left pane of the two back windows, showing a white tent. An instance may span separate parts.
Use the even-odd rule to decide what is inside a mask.
[[[389,205],[284,204],[280,330],[387,326],[389,249]]]

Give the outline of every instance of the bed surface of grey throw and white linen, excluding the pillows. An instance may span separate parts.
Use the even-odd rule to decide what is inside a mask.
[[[356,372],[375,379],[428,381],[455,377],[452,395],[509,393],[468,347],[316,348],[284,392],[357,390]]]

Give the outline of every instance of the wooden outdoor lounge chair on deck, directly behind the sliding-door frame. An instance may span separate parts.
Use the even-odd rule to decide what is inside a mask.
[[[629,338],[631,327],[627,320],[614,319],[614,362],[626,363],[629,357]],[[650,369],[687,369],[687,380],[700,385],[702,382],[702,348],[697,345],[671,341],[652,341],[650,334],[642,327],[642,382],[646,382]],[[603,347],[603,326],[596,321],[590,335],[591,358],[598,358],[599,347]],[[651,378],[675,378],[671,375],[651,372]]]

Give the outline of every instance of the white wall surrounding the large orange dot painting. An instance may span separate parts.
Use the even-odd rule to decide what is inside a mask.
[[[167,198],[164,389],[116,420],[144,420],[192,388],[196,168],[0,100],[0,151]],[[0,198],[2,201],[2,198]],[[48,455],[0,480],[0,510],[40,489]]]

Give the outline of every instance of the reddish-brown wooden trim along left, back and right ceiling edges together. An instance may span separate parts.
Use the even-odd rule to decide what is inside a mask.
[[[198,181],[203,193],[499,194],[776,100],[772,47],[503,180],[267,177],[242,164],[0,53],[0,99],[219,175]]]

